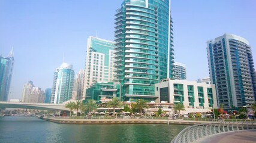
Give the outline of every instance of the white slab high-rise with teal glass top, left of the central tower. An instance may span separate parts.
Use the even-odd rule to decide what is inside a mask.
[[[113,81],[114,43],[92,36],[88,38],[83,99],[87,87],[92,83]]]

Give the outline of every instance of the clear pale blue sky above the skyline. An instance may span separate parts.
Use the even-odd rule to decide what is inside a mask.
[[[113,41],[115,10],[122,0],[1,0],[0,54],[14,48],[10,98],[21,98],[23,85],[52,88],[63,60],[77,73],[84,69],[87,39]],[[256,1],[172,0],[174,60],[186,64],[188,80],[209,76],[206,41],[224,33],[247,39],[256,58]],[[254,60],[255,61],[255,60]]]

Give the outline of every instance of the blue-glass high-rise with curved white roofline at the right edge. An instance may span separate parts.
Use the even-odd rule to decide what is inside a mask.
[[[256,75],[249,42],[224,34],[207,41],[207,55],[218,104],[225,108],[251,106],[255,102]]]

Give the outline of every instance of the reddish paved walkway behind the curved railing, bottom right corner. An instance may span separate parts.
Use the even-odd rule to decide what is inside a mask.
[[[209,138],[203,138],[201,143],[255,143],[256,142],[256,130],[241,130],[234,132],[221,133],[218,135],[210,136]]]

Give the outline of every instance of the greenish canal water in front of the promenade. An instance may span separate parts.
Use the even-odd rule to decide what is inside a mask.
[[[37,117],[0,117],[0,142],[170,142],[187,125],[67,125]]]

